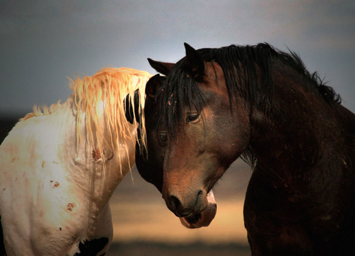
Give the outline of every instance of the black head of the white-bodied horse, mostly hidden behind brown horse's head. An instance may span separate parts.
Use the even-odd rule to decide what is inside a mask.
[[[143,143],[143,138],[141,137],[141,125],[137,126],[137,142],[136,142],[136,167],[140,176],[147,182],[152,183],[155,187],[162,192],[163,184],[163,165],[162,161],[164,159],[165,143],[160,143],[155,138],[155,131],[159,121],[156,119],[156,101],[155,92],[150,91],[156,88],[156,83],[161,83],[165,80],[165,77],[159,74],[150,78],[146,84],[145,90],[145,102],[144,102],[144,117],[145,117],[145,137],[146,143],[145,147],[140,145]],[[139,98],[135,98],[135,104],[139,104]],[[137,109],[137,108],[136,108]],[[126,108],[126,118],[130,122],[133,121],[133,110]],[[139,113],[136,113],[136,117]],[[140,120],[137,118],[138,123]],[[166,133],[159,135],[161,138],[166,138]],[[180,222],[183,226],[187,228],[200,228],[207,227],[210,225],[211,221],[214,219],[217,210],[217,204],[211,190],[207,195],[208,206],[198,214],[192,214],[190,216],[180,217]]]

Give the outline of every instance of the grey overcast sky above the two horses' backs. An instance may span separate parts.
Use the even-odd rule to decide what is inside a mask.
[[[69,79],[103,67],[156,72],[146,58],[176,62],[231,44],[299,54],[355,112],[354,1],[0,0],[0,117],[66,100]]]

